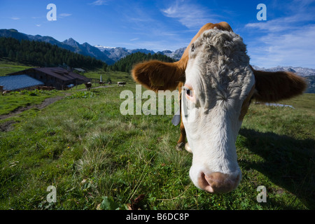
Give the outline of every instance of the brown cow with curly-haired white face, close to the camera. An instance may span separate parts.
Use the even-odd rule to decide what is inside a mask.
[[[307,86],[295,73],[253,69],[246,45],[227,22],[204,25],[178,62],[141,62],[132,77],[154,91],[179,88],[176,148],[193,153],[190,179],[209,193],[229,193],[241,181],[235,141],[251,100],[277,102]]]

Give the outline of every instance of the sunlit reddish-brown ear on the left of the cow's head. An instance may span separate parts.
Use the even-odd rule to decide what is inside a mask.
[[[176,90],[179,83],[185,81],[185,68],[178,62],[152,60],[136,64],[132,77],[149,90]]]

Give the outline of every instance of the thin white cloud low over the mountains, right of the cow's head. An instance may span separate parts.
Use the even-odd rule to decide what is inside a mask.
[[[315,68],[315,25],[283,32],[269,33],[248,43],[251,64],[264,66],[304,66]]]

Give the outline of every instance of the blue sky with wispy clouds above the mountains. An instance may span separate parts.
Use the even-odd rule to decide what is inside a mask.
[[[46,18],[48,3],[56,21]],[[259,3],[265,21],[256,18]],[[202,25],[221,21],[242,36],[251,64],[315,69],[315,0],[0,0],[0,29],[155,52],[186,47]]]

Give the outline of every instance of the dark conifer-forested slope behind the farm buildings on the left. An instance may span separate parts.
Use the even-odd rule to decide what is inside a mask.
[[[18,41],[15,38],[0,38],[0,57],[35,66],[67,65],[92,69],[105,64],[94,57],[80,55],[57,45],[40,41]]]

